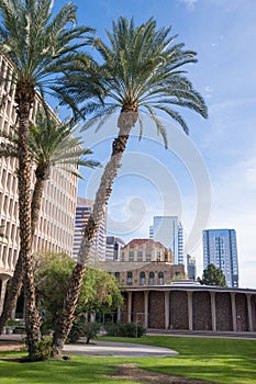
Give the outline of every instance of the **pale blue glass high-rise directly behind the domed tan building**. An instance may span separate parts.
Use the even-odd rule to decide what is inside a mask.
[[[174,253],[175,264],[183,264],[183,227],[177,216],[154,216],[149,238],[160,241]]]

